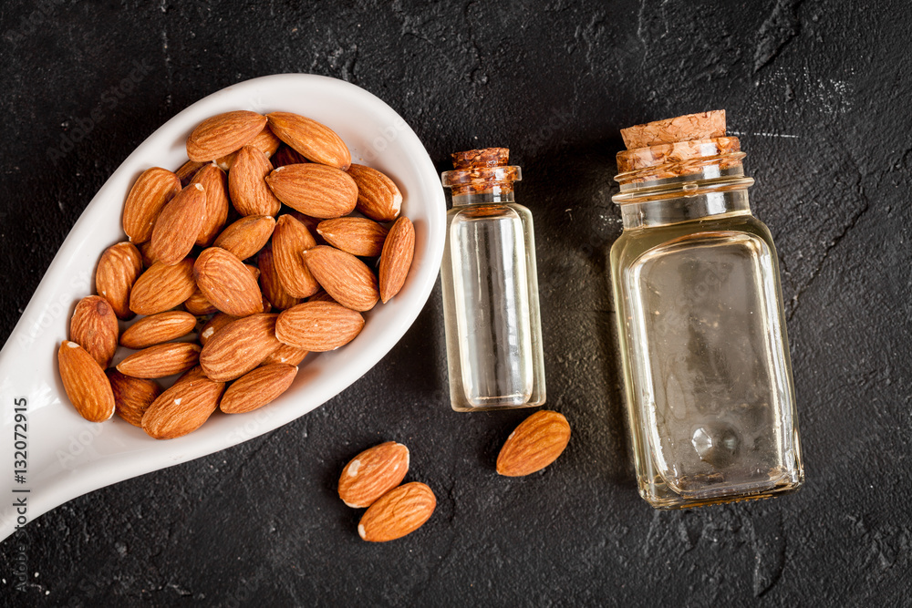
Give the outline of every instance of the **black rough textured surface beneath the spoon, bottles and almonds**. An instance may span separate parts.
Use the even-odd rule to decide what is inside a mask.
[[[529,412],[451,411],[438,287],[389,356],[315,412],[29,524],[26,593],[0,544],[2,603],[909,605],[909,24],[906,3],[855,0],[5,0],[0,337],[161,123],[250,77],[324,74],[398,110],[440,170],[454,150],[513,149],[549,407],[574,436],[543,473],[498,478]],[[134,60],[148,74],[110,108]],[[728,110],[779,247],[807,484],[656,512],[635,489],[606,287],[614,155],[622,127],[711,108]],[[408,479],[439,507],[375,545],[335,483],[381,439],[411,448]]]

